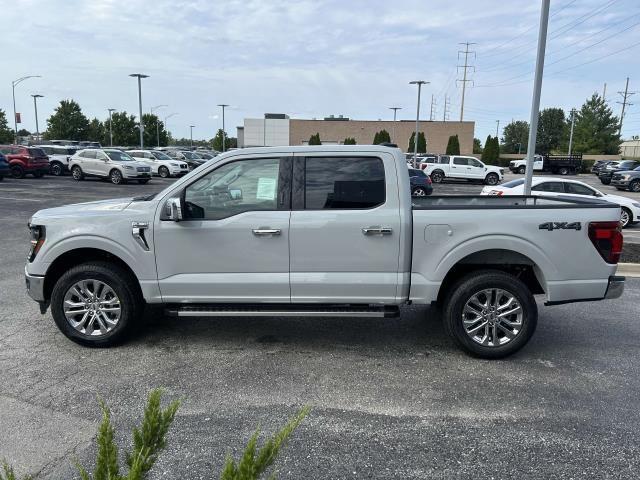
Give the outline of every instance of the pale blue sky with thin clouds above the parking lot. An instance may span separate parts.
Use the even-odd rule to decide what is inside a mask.
[[[168,104],[177,137],[211,138],[222,125],[235,136],[245,117],[264,112],[292,118],[331,114],[354,119],[442,119],[460,116],[459,42],[476,42],[465,120],[484,142],[511,119],[529,118],[540,2],[533,0],[0,0],[0,108],[11,117],[11,81],[24,128],[41,130],[61,99],[73,98],[90,117],[107,108],[137,114]],[[599,42],[598,44],[596,44]],[[595,45],[594,45],[595,44]],[[621,51],[626,49],[624,51]],[[619,52],[619,53],[616,53]],[[640,91],[640,2],[552,0],[542,107],[579,107],[602,92],[619,114],[627,76]],[[640,93],[631,97],[623,135],[640,134]]]

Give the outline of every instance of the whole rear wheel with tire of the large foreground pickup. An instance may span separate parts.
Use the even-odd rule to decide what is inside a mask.
[[[538,322],[538,307],[527,286],[499,270],[462,277],[449,290],[444,325],[467,353],[503,358],[529,341]]]

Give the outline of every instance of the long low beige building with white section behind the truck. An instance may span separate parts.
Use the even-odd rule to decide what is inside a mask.
[[[444,153],[451,135],[458,135],[460,153],[473,153],[474,122],[431,122],[420,121],[420,131],[425,133],[427,151]],[[239,147],[306,145],[309,137],[320,134],[325,145],[339,145],[347,137],[355,138],[359,145],[370,145],[380,130],[386,130],[391,141],[403,151],[409,146],[409,138],[415,131],[415,121],[399,120],[350,120],[342,117],[328,117],[324,120],[290,119],[283,114],[266,114],[265,118],[244,120],[238,127]],[[240,142],[240,138],[243,139]]]

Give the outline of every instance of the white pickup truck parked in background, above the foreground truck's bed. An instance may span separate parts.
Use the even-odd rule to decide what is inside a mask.
[[[438,163],[429,164],[424,171],[434,183],[440,183],[445,178],[456,178],[497,185],[504,177],[504,169],[485,165],[475,157],[464,155],[440,155]]]

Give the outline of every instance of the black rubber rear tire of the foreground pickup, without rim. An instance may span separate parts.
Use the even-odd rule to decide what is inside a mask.
[[[474,295],[487,289],[499,289],[507,292],[515,298],[521,307],[521,326],[515,337],[502,345],[481,345],[465,331],[463,323],[465,305]],[[447,334],[464,351],[477,357],[495,359],[517,352],[527,344],[538,323],[538,307],[529,288],[517,277],[499,270],[481,270],[462,277],[450,287],[445,298],[443,320]],[[473,324],[470,326],[473,327]],[[493,331],[504,335],[504,332],[498,331],[497,327]],[[505,337],[506,335],[502,339]],[[498,338],[498,343],[500,341],[501,339]]]

